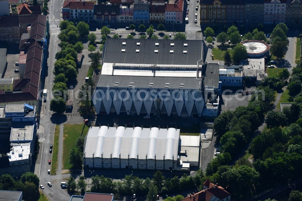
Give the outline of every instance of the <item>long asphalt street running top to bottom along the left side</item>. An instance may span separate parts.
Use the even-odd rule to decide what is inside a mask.
[[[53,66],[55,62],[56,52],[60,51],[58,46],[58,33],[59,28],[57,27],[60,23],[61,19],[61,8],[62,8],[62,0],[59,1],[50,1],[48,3],[48,7],[50,8],[48,19],[50,24],[50,43],[49,43],[49,59],[48,59],[48,69],[46,73],[45,80],[45,88],[50,90],[53,87]],[[44,83],[42,83],[42,87]],[[53,134],[54,134],[54,123],[56,120],[51,118],[53,112],[49,110],[51,93],[48,91],[47,101],[43,103],[43,115],[41,115],[40,126],[44,127],[44,136],[40,134],[40,149],[41,143],[43,146],[41,161],[37,161],[40,163],[40,170],[37,173],[37,165],[36,165],[36,174],[39,176],[40,184],[43,183],[45,189],[43,193],[49,198],[49,200],[69,200],[70,196],[68,195],[66,190],[61,189],[60,182],[64,177],[69,177],[69,175],[58,174],[52,176],[47,174],[47,170],[50,169],[50,165],[48,164],[48,160],[52,158],[52,154],[49,152],[50,145],[53,144]],[[52,121],[51,121],[52,120]],[[43,139],[43,140],[42,140]],[[41,153],[39,153],[41,154]],[[53,184],[52,187],[47,186],[47,182],[51,182]]]

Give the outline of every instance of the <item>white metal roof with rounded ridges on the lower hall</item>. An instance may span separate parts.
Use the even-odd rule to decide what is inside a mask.
[[[87,134],[84,153],[86,158],[175,159],[178,154],[179,129],[91,127]]]

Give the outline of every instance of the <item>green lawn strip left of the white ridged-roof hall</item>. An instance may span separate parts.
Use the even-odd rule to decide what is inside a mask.
[[[64,125],[64,136],[63,136],[63,164],[64,170],[70,169],[71,164],[69,163],[69,154],[72,148],[76,147],[76,141],[81,136],[83,129],[83,123],[81,124],[66,124]],[[86,136],[89,127],[85,126],[83,136]]]

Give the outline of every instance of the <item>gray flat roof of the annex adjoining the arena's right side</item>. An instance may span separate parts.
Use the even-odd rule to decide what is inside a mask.
[[[206,68],[204,75],[204,86],[208,88],[219,87],[219,65],[207,64],[203,67]]]

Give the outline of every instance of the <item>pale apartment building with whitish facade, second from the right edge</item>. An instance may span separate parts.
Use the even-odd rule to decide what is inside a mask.
[[[263,24],[285,23],[286,0],[265,0]]]

